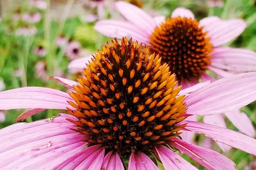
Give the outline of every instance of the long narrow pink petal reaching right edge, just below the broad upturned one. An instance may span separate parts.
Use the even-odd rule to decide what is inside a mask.
[[[219,141],[239,150],[243,150],[244,152],[256,155],[256,139],[215,125],[193,121],[185,122],[188,123],[186,125],[188,131],[205,134],[207,138],[214,139],[214,141]]]

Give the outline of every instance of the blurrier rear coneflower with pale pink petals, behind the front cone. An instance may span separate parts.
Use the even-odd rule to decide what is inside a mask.
[[[221,46],[244,31],[246,24],[241,19],[207,17],[198,21],[184,8],[177,8],[166,19],[152,18],[132,4],[118,1],[115,5],[127,20],[101,20],[95,29],[109,37],[129,36],[150,45],[183,87],[200,79],[214,80],[207,70],[219,76],[256,71],[255,52]]]

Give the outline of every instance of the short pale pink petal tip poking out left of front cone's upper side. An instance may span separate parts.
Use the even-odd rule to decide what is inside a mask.
[[[88,62],[92,60],[92,55],[83,57],[83,58],[79,58],[79,59],[74,59],[72,60],[69,64],[68,64],[68,69],[70,69],[70,71],[72,71],[72,73],[76,72],[76,71],[83,71],[83,68],[86,67],[86,64],[88,64]]]

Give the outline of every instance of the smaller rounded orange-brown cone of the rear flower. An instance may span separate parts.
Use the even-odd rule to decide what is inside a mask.
[[[179,81],[199,79],[211,64],[207,32],[192,18],[167,18],[150,36],[151,50],[163,57]]]

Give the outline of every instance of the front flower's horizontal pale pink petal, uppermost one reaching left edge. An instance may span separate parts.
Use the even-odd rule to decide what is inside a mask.
[[[41,108],[66,110],[73,99],[65,92],[45,87],[21,87],[0,92],[0,110]]]

